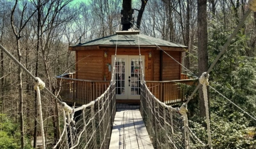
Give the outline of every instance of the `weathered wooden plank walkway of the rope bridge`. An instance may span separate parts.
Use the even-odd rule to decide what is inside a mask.
[[[153,149],[139,105],[117,103],[109,149]]]

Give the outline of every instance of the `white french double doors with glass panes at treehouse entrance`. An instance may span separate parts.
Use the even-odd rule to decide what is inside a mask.
[[[140,83],[145,56],[112,55],[112,66],[115,67],[116,99],[140,99]],[[143,66],[144,72],[144,66]]]

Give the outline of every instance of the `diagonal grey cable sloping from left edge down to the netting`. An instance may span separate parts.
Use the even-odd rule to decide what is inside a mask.
[[[19,67],[21,67],[21,69],[23,69],[29,76],[32,77],[32,79],[34,79],[36,82],[38,81],[37,78],[35,76],[32,75],[31,72],[29,72],[13,55],[11,55],[11,53],[9,51],[7,51],[1,44],[0,44],[0,49],[3,50],[6,55],[8,55],[8,57],[10,57],[17,65],[19,65]],[[50,90],[48,90],[48,88],[45,87],[45,90],[48,94],[50,94],[54,99],[56,99],[61,105],[63,105],[63,102],[60,101],[60,99],[58,99]]]

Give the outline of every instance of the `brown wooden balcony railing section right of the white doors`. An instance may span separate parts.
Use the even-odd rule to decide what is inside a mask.
[[[152,94],[167,105],[175,105],[177,102],[185,102],[191,95],[182,84],[192,86],[195,79],[174,81],[146,81],[146,85]]]

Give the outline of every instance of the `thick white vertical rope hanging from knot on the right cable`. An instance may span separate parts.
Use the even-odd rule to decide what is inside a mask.
[[[208,78],[209,74],[206,75],[206,72],[202,74],[199,78],[199,82],[203,84],[203,98],[205,100],[205,112],[206,112],[206,124],[207,124],[207,134],[208,134],[208,144],[209,147],[212,149],[211,144],[211,132],[210,132],[210,119],[209,119],[209,108],[208,108],[208,99],[207,99],[207,86],[209,86]]]

